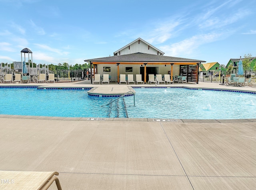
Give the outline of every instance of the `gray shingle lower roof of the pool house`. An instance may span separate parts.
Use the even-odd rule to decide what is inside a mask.
[[[84,61],[98,61],[98,62],[141,62],[141,63],[148,63],[148,62],[180,62],[180,63],[194,63],[194,62],[206,62],[203,60],[197,59],[186,59],[180,57],[169,57],[163,55],[153,55],[148,53],[131,53],[127,55],[116,55],[111,57],[102,57],[96,59],[86,59]]]

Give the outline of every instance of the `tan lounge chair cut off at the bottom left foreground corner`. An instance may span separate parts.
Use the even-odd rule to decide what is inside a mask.
[[[27,171],[0,171],[1,189],[38,189],[46,190],[55,181],[58,190],[62,190],[60,181],[56,177],[58,172],[27,172]]]

